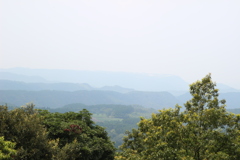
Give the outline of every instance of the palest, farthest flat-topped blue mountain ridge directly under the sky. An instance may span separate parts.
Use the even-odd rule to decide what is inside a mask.
[[[93,88],[105,87],[106,90],[121,86],[127,90],[168,91],[173,95],[181,95],[189,89],[189,83],[179,76],[127,72],[10,68],[0,69],[0,79],[27,83],[88,84]],[[218,84],[218,88],[220,92],[240,91],[224,84]]]

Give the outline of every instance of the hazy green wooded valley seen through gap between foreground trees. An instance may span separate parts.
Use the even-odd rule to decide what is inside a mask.
[[[93,113],[92,117],[96,121],[96,124],[106,128],[111,140],[115,142],[116,148],[122,144],[125,131],[137,127],[140,116],[150,117],[151,113],[156,112],[154,109],[138,105],[84,105],[80,103],[69,104],[62,108],[49,109],[49,111],[62,113],[69,111],[77,112],[84,108]]]

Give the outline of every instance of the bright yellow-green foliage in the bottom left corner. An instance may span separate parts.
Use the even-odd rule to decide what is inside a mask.
[[[14,149],[15,143],[4,141],[4,137],[0,137],[0,159],[11,160],[16,154]]]

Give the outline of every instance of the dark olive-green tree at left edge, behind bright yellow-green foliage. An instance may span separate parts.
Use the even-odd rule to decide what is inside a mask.
[[[16,143],[16,160],[51,159],[52,147],[41,118],[29,104],[8,111],[7,106],[0,106],[0,136]]]

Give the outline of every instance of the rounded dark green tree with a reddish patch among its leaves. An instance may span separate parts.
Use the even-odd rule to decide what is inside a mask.
[[[91,120],[86,109],[75,113],[50,113],[39,110],[48,138],[58,141],[56,159],[72,160],[111,160],[114,158],[114,145],[104,128]]]

